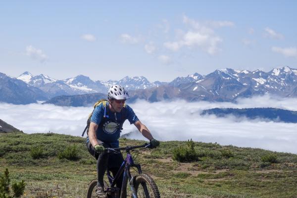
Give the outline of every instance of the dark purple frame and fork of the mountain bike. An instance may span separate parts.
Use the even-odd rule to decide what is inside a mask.
[[[118,172],[116,173],[116,175],[114,177],[112,177],[110,174],[110,171],[107,170],[107,173],[106,173],[107,178],[108,178],[110,187],[114,188],[116,182],[119,180],[120,175],[124,171],[120,198],[124,198],[124,196],[126,195],[128,180],[129,180],[129,185],[131,187],[133,198],[138,198],[137,194],[135,192],[135,189],[134,189],[134,176],[131,176],[130,167],[136,167],[138,170],[138,173],[141,174],[142,173],[141,166],[140,166],[140,164],[134,163],[132,155],[130,154],[130,149],[126,149],[126,152],[127,152],[126,159],[123,161],[123,163],[122,163],[121,167],[119,168]],[[146,187],[144,187],[144,188],[147,191]]]

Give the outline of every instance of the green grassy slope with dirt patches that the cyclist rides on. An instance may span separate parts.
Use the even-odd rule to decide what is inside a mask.
[[[142,141],[121,139],[120,145]],[[65,145],[77,145],[80,159],[60,160]],[[150,174],[163,198],[293,198],[297,196],[297,155],[263,149],[222,147],[195,143],[203,153],[199,161],[173,161],[172,150],[185,142],[162,142],[160,147],[139,152],[135,159]],[[33,159],[32,147],[41,146],[44,157]],[[223,156],[222,150],[231,153]],[[223,152],[224,153],[224,152]],[[278,163],[267,164],[261,156],[277,155]],[[233,155],[233,156],[232,156]],[[96,178],[96,161],[85,147],[85,139],[59,134],[0,134],[0,172],[8,168],[12,181],[27,183],[28,198],[83,198]]]

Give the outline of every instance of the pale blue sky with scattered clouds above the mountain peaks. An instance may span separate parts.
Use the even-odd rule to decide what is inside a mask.
[[[297,68],[297,1],[2,1],[0,72],[171,81]]]

